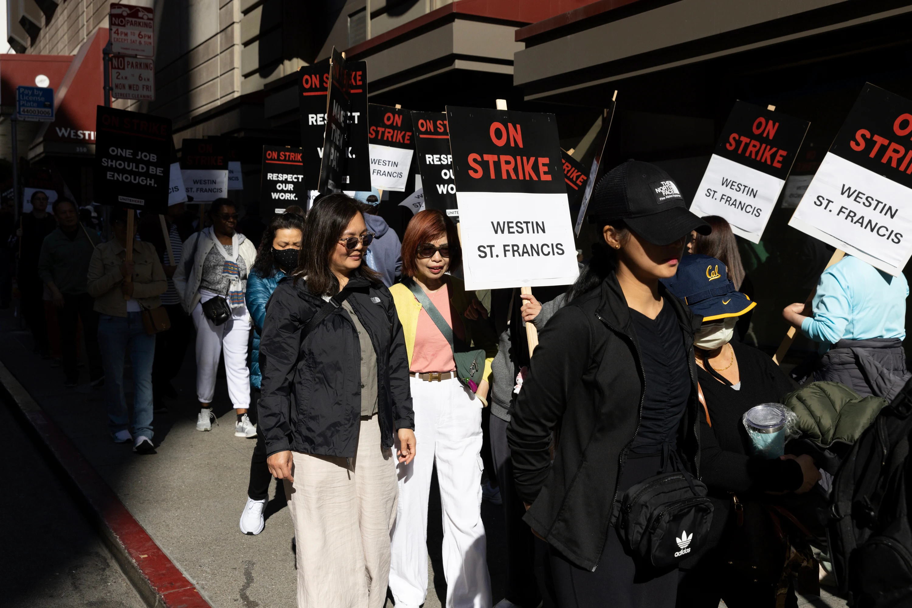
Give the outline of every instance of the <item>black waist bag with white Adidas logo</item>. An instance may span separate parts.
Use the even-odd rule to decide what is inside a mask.
[[[706,485],[685,471],[661,473],[627,489],[618,528],[630,551],[657,568],[700,552],[710,536]]]

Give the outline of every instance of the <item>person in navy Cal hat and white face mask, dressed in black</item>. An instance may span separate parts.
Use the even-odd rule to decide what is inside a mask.
[[[756,303],[735,290],[724,263],[709,255],[688,255],[664,283],[703,319],[694,335],[705,401],[700,473],[713,504],[709,540],[702,552],[680,565],[678,608],[716,608],[720,599],[729,608],[772,608],[773,583],[779,582],[785,551],[762,551],[765,542],[748,545],[747,539],[762,539],[767,532],[762,503],[772,497],[764,492],[803,494],[820,473],[807,455],[751,458],[751,439],[741,417],[762,403],[781,403],[793,385],[765,353],[731,341],[738,320]],[[738,564],[732,565],[735,559]]]

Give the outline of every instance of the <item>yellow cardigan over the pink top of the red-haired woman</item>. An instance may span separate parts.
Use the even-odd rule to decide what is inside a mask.
[[[453,310],[461,316],[465,313],[469,304],[472,304],[472,298],[475,292],[465,291],[465,283],[455,276],[447,276],[450,283],[450,304]],[[402,283],[396,283],[389,288],[389,293],[393,294],[393,302],[396,304],[396,312],[399,314],[399,323],[402,324],[402,333],[405,335],[405,347],[409,353],[409,365],[411,365],[411,356],[415,350],[415,333],[418,330],[418,315],[421,312],[421,304],[415,298],[408,287]],[[491,381],[491,363],[494,356],[497,355],[497,336],[493,330],[480,319],[472,321],[462,316],[462,326],[465,328],[465,339],[475,348],[484,349],[484,375],[483,379]]]

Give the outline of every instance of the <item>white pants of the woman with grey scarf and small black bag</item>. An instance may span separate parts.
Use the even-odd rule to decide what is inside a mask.
[[[202,303],[196,304],[192,317],[193,325],[196,325],[196,398],[200,403],[212,403],[219,355],[224,355],[228,397],[236,409],[250,407],[247,344],[253,325],[247,307],[233,308],[232,317],[222,325],[212,325],[212,321],[202,314]]]

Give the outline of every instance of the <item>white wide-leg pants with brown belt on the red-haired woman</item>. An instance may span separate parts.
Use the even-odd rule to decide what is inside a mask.
[[[443,511],[447,608],[490,608],[482,523],[482,402],[456,378],[411,378],[415,459],[399,463],[399,506],[392,531],[389,588],[397,608],[420,606],[428,594],[428,497],[437,464]]]

